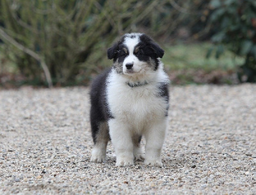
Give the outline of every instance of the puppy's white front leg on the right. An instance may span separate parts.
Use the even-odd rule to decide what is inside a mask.
[[[162,167],[161,152],[166,134],[167,120],[159,120],[153,123],[145,134],[146,151],[145,164]]]

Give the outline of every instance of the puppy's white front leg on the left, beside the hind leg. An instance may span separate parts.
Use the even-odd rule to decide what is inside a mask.
[[[109,134],[116,153],[116,166],[133,165],[133,145],[128,125],[116,119],[109,120]]]

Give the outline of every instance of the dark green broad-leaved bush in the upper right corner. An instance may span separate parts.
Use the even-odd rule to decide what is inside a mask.
[[[256,1],[212,0],[211,7],[216,58],[224,52],[223,45],[237,56],[244,56],[238,78],[241,82],[256,82]]]

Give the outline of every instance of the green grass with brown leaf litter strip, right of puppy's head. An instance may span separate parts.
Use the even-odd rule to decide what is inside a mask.
[[[173,84],[237,84],[237,65],[244,58],[227,51],[216,59],[205,58],[212,43],[166,45],[162,59]]]

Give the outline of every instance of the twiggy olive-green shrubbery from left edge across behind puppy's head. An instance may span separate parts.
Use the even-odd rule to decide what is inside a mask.
[[[54,85],[86,84],[93,72],[111,64],[102,61],[119,36],[140,31],[166,42],[171,36],[190,36],[188,29],[196,34],[204,27],[208,3],[1,0],[0,48],[20,74],[36,84],[49,84],[47,72]],[[187,29],[180,31],[184,26]]]

